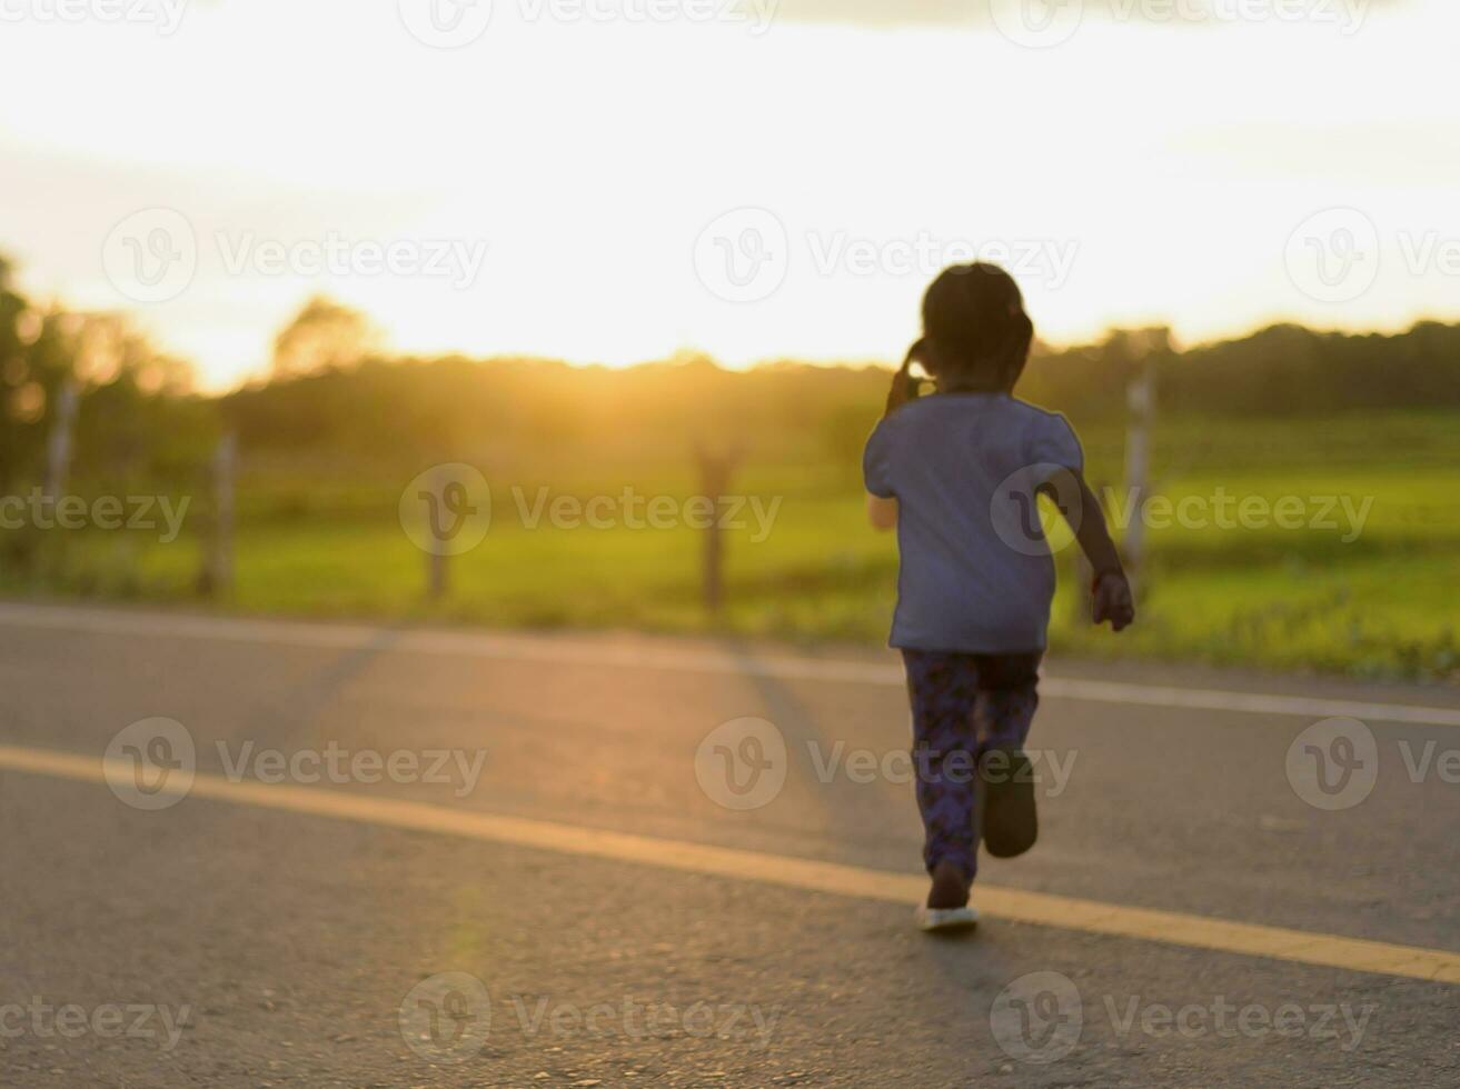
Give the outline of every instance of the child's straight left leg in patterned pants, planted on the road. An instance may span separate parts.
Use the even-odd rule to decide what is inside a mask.
[[[971,654],[942,651],[902,651],[902,661],[912,704],[923,861],[929,873],[940,863],[956,867],[967,889],[978,866],[974,841],[978,669]]]

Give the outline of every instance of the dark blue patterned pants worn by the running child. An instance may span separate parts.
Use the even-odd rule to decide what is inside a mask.
[[[930,873],[940,861],[953,861],[969,882],[978,871],[978,761],[994,746],[1023,746],[1040,705],[1041,657],[1038,651],[902,651],[926,835],[923,861]]]

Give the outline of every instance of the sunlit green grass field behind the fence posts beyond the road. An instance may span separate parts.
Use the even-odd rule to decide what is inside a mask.
[[[1120,434],[1094,428],[1083,438],[1091,480],[1118,480]],[[1057,651],[1460,679],[1460,504],[1453,498],[1460,490],[1460,417],[1169,420],[1156,450],[1152,495],[1177,509],[1190,498],[1186,509],[1197,517],[1148,530],[1140,619],[1121,636],[1079,619],[1072,556],[1061,552]],[[891,536],[866,527],[856,466],[825,457],[748,463],[734,490],[765,504],[778,498],[780,507],[764,540],[755,540],[749,515],[746,528],[729,531],[727,603],[715,622],[699,604],[702,531],[682,524],[529,528],[511,477],[495,473],[491,531],[450,561],[447,597],[428,601],[426,556],[397,517],[407,476],[345,474],[305,486],[279,472],[247,472],[235,587],[219,604],[245,613],[502,628],[885,638],[896,547]],[[625,485],[676,499],[694,490],[685,473],[612,466],[523,488],[529,501],[539,486],[585,499],[619,495]],[[1218,524],[1221,496],[1231,499],[1228,521],[1242,521],[1238,504],[1247,501],[1250,511],[1272,508],[1267,524]],[[1286,507],[1273,507],[1285,498]],[[1120,511],[1124,496],[1115,499]],[[1280,511],[1289,528],[1272,524]],[[1362,523],[1353,517],[1361,512]],[[12,596],[197,601],[206,533],[206,511],[191,515],[171,544],[140,531],[48,530],[29,566],[4,565],[0,585]]]

